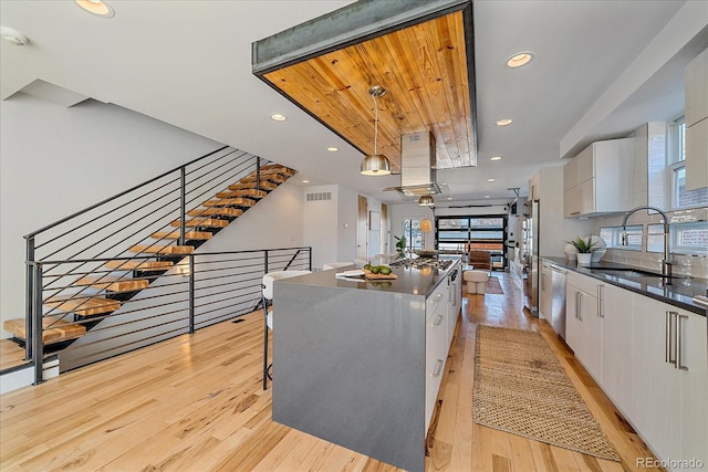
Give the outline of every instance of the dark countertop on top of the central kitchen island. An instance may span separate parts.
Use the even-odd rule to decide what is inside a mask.
[[[459,255],[440,255],[440,259],[461,261]],[[295,283],[310,286],[326,286],[347,290],[374,290],[381,292],[389,292],[403,295],[421,295],[427,297],[435,287],[446,280],[449,271],[457,266],[454,262],[447,270],[420,271],[413,268],[392,268],[394,274],[398,277],[394,280],[350,280],[336,279],[335,273],[344,272],[346,269],[337,269],[330,271],[315,272],[308,275],[283,279],[277,283]]]

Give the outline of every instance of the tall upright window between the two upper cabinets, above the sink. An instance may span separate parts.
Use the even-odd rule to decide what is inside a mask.
[[[708,206],[708,187],[686,190],[686,123],[684,117],[668,127],[669,207],[673,210]]]

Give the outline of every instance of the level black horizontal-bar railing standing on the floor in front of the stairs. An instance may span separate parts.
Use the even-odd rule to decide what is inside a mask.
[[[66,270],[64,265],[101,264],[111,260],[114,259],[51,260],[32,262],[30,266],[37,277],[34,286],[39,287],[41,282],[46,283],[46,279],[61,277],[45,274],[52,271],[63,273]],[[97,315],[81,316],[76,311],[66,313],[43,310],[50,297],[41,297],[40,291],[37,291],[31,301],[31,312],[34,314],[33,349],[34,353],[45,353],[43,331],[66,326],[66,323],[85,327],[84,336],[72,339],[69,346],[61,349],[61,370],[66,371],[170,337],[194,333],[260,310],[263,275],[289,269],[312,270],[312,249],[187,254],[170,270],[154,276],[154,283],[140,289],[135,296],[126,297],[125,293],[108,295],[106,300],[111,300],[111,303],[117,301],[119,306]],[[92,289],[92,295],[102,292],[105,294],[105,289]],[[43,381],[42,360],[51,355],[53,354],[50,352],[33,359],[35,384]]]

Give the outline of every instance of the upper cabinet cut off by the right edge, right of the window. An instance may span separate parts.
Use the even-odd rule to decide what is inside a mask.
[[[686,66],[686,189],[708,186],[708,49]]]

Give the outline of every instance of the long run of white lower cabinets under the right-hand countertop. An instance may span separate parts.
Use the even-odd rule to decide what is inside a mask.
[[[708,464],[706,317],[571,271],[565,316],[565,342],[652,451]]]

